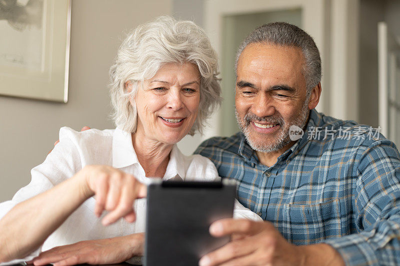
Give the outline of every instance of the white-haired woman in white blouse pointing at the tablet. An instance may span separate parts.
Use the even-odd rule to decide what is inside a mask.
[[[116,129],[61,128],[31,182],[0,204],[0,263],[50,249],[34,264],[109,264],[142,255],[145,200],[134,200],[145,197],[143,184],[150,177],[218,178],[211,161],[184,156],[175,145],[201,132],[219,104],[216,74],[215,51],[193,22],[159,17],[138,26],[110,69]],[[234,216],[258,219],[237,202]]]

